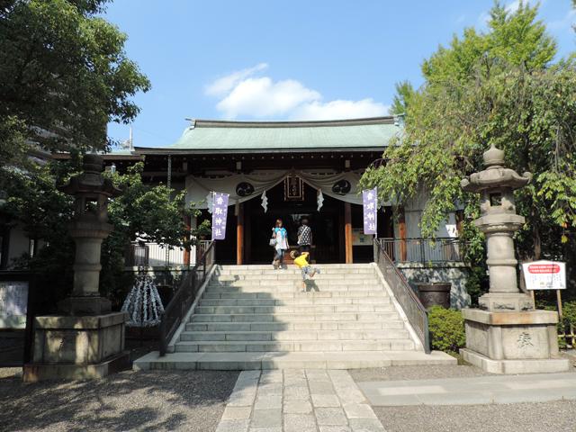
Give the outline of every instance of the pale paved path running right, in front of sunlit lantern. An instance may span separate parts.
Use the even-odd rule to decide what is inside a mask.
[[[359,383],[374,406],[477,405],[576,400],[576,374],[489,375]]]

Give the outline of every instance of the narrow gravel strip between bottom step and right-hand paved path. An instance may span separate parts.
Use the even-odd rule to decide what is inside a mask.
[[[470,365],[390,366],[348,371],[354,381],[433,380],[436,378],[466,378],[488,375]]]

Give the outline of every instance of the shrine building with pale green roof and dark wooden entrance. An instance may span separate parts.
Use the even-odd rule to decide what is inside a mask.
[[[143,159],[145,181],[185,189],[186,201],[202,209],[197,220],[189,221],[192,226],[211,218],[211,192],[229,193],[227,234],[216,248],[220,264],[270,263],[268,239],[275,220],[284,221],[290,245],[295,246],[304,217],[313,233],[313,260],[362,263],[373,259],[373,236],[363,233],[358,181],[367,166],[383,163],[384,149],[401,133],[401,119],[392,116],[338,121],[195,120],[172,145],[135,147],[106,159],[119,169],[135,158]],[[378,211],[378,238],[390,239],[391,255],[401,260],[412,259],[410,239],[420,237],[418,201],[399,209],[396,217],[390,203]],[[448,238],[449,230],[447,224],[438,237]],[[184,251],[180,264],[189,264],[186,255]]]

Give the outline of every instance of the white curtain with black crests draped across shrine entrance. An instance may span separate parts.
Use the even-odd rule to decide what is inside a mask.
[[[288,175],[298,175],[304,183],[311,185],[316,190],[321,190],[323,194],[337,200],[362,204],[362,195],[358,189],[359,174],[353,171],[322,173],[318,170],[269,170],[250,175],[229,174],[203,177],[188,175],[186,177],[186,202],[194,202],[197,208],[206,209],[206,195],[211,191],[229,193],[229,205],[246,202],[252,198],[260,197],[265,191],[272,189],[276,184],[282,183]],[[351,185],[350,192],[345,195],[332,192],[332,186],[340,180],[347,180]],[[252,184],[254,193],[248,196],[238,196],[236,186],[241,182]]]

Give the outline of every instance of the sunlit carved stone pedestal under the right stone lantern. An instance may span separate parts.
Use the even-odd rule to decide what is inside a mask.
[[[554,311],[495,312],[464,309],[464,360],[491,374],[566,372],[558,352]]]

